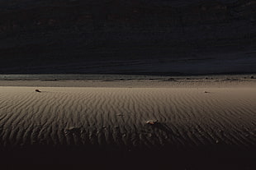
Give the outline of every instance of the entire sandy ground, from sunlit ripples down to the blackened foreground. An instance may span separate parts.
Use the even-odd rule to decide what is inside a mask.
[[[256,168],[255,81],[8,82],[0,86],[4,168]]]

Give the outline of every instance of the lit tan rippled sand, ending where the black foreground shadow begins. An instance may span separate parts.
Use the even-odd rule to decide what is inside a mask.
[[[157,122],[150,125],[149,120]],[[77,147],[130,155],[164,149],[172,150],[170,156],[178,149],[252,150],[255,127],[254,85],[0,87],[2,149]]]

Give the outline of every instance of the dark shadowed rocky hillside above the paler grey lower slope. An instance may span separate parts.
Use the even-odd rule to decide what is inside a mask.
[[[0,73],[97,73],[99,62],[111,69],[251,53],[255,10],[253,0],[2,0]]]

